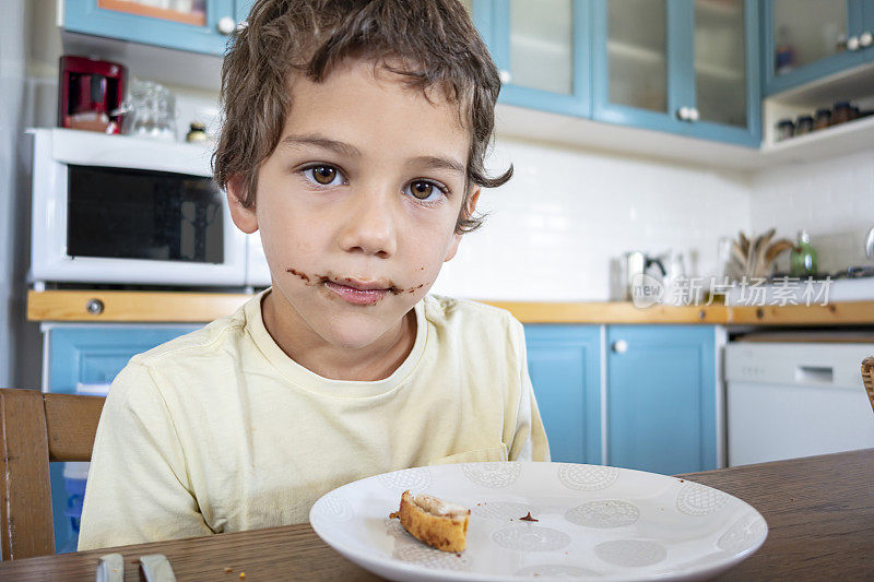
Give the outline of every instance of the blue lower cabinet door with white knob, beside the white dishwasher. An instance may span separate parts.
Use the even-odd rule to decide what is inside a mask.
[[[714,328],[611,325],[606,335],[606,464],[716,468]]]

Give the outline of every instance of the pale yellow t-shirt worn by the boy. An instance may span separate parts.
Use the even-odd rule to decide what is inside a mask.
[[[406,359],[357,382],[285,355],[262,296],[134,356],[115,379],[79,549],[306,522],[331,489],[404,467],[550,460],[508,312],[426,296]]]

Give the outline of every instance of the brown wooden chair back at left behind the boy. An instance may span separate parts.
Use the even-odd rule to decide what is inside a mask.
[[[106,399],[0,389],[0,558],[55,554],[50,461],[90,461]]]

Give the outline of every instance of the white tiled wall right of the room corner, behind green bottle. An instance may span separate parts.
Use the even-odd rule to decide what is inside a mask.
[[[863,250],[874,226],[874,147],[759,171],[753,176],[749,210],[756,231],[776,227],[778,235],[794,239],[805,228],[820,271],[874,264]],[[778,266],[787,263],[784,256]]]

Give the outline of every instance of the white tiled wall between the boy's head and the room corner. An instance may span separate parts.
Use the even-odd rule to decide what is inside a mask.
[[[749,226],[742,173],[499,139],[488,166],[513,178],[485,191],[485,225],[465,235],[435,293],[520,300],[606,300],[611,260],[684,252],[717,274],[717,242]]]

